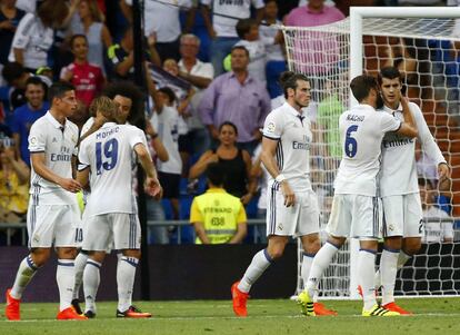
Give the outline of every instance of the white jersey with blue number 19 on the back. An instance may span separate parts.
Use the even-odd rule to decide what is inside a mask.
[[[80,144],[79,170],[90,168],[91,197],[86,215],[137,213],[132,191],[133,148],[146,135],[134,126],[104,124]]]

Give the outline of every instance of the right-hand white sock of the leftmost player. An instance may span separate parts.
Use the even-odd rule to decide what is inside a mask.
[[[70,307],[73,297],[73,286],[76,284],[73,259],[58,259],[56,280],[59,287],[59,311],[63,311]]]

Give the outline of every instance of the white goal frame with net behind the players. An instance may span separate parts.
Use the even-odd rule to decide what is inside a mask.
[[[289,69],[303,72],[311,79],[312,101],[309,112],[314,125],[314,140],[318,141],[312,147],[311,178],[320,200],[322,228],[329,218],[331,188],[338,168],[334,152],[340,145],[338,115],[346,107],[357,104],[349,90],[349,81],[364,71],[377,75],[382,67],[397,63],[406,77],[409,99],[420,105],[444,157],[458,174],[454,174],[450,186],[453,205],[448,205],[453,209],[452,215],[460,216],[460,206],[456,206],[460,200],[460,132],[453,121],[460,120],[460,66],[454,63],[456,59],[451,59],[450,53],[456,52],[453,47],[446,47],[460,42],[460,31],[454,35],[459,22],[460,7],[352,7],[350,17],[339,22],[317,27],[281,27]],[[460,55],[460,50],[457,52]],[[460,61],[460,56],[457,61]],[[426,177],[429,179],[430,176]],[[358,240],[351,239],[338,254],[333,260],[334,266],[327,270],[320,283],[322,296],[358,298]],[[431,253],[433,247],[424,249]],[[452,250],[458,250],[458,243]],[[301,255],[299,246],[298,292],[302,288]],[[432,262],[438,259],[434,256],[423,260],[427,272],[433,266],[446,269],[446,255],[441,256],[438,265]],[[457,258],[451,263],[453,272],[458,262]],[[418,263],[421,260],[418,262],[416,257],[408,266],[417,266]],[[422,280],[416,278],[416,269],[413,273],[414,282]],[[348,279],[344,278],[347,275]],[[452,276],[457,277],[459,273],[449,276],[447,282],[452,282]],[[398,285],[403,286],[400,283]],[[447,287],[451,287],[449,285]],[[430,287],[429,283],[423,287]],[[453,285],[453,288],[446,292],[459,295],[460,288]],[[429,289],[420,289],[419,293],[414,285],[410,293],[404,293],[402,287],[399,292],[397,288],[397,294],[432,293]],[[434,294],[443,292],[437,289]]]

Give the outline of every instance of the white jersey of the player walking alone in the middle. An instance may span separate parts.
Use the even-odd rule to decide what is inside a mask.
[[[280,174],[284,175],[294,191],[311,189],[310,183],[310,119],[284,102],[266,118],[263,136],[278,140],[276,161]],[[273,178],[269,174],[268,185]]]

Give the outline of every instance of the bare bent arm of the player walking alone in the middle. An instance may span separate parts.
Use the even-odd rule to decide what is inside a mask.
[[[268,170],[268,173],[274,178],[280,179],[280,170],[278,169],[277,161],[274,160],[274,154],[277,151],[278,139],[270,139],[268,137],[263,137],[262,139],[262,154],[260,158]],[[296,195],[292,191],[291,187],[289,186],[288,180],[283,179],[279,181],[281,186],[281,191],[284,195],[284,206],[290,207],[296,203]]]

